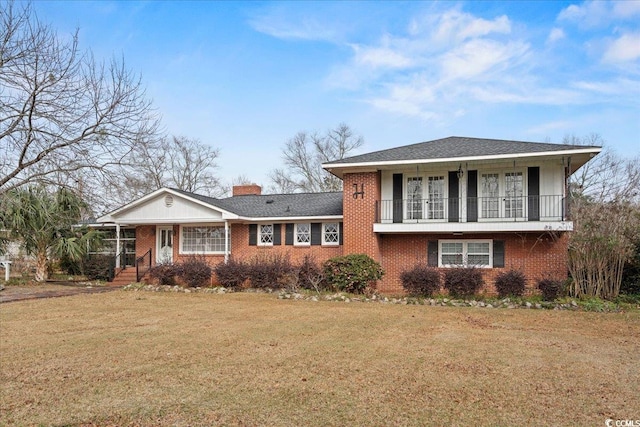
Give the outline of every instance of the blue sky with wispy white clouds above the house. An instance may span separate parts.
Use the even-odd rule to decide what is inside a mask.
[[[361,152],[447,136],[640,153],[640,1],[35,2],[60,36],[123,56],[170,134],[268,186],[298,131]]]

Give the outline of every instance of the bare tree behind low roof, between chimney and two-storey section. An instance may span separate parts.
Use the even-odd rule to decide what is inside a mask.
[[[322,169],[322,163],[343,159],[363,144],[363,138],[344,123],[324,135],[298,132],[282,150],[286,168],[270,174],[271,189],[286,193],[340,191],[342,181]]]

